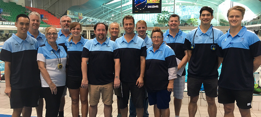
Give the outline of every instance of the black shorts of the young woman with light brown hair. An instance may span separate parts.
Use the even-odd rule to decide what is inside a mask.
[[[70,89],[78,89],[82,84],[82,76],[68,76],[66,77],[66,86]]]

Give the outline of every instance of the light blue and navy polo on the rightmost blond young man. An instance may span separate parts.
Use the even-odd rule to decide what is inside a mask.
[[[236,36],[230,29],[218,40],[219,57],[223,57],[218,86],[233,90],[254,90],[253,61],[261,55],[258,36],[244,26]]]

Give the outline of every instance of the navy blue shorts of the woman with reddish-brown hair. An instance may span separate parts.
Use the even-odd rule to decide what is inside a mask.
[[[168,90],[148,92],[149,105],[157,104],[158,109],[169,108],[170,94]]]

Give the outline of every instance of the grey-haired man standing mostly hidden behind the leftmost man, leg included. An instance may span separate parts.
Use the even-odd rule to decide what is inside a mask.
[[[39,46],[46,42],[46,37],[39,31],[41,16],[37,12],[31,12],[28,17],[30,18],[30,27],[27,34],[38,41]],[[41,85],[40,85],[41,88]],[[43,116],[43,94],[40,93],[39,106],[36,107],[37,116]]]

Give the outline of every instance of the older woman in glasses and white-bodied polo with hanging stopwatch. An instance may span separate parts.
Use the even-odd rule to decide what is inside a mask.
[[[45,37],[46,43],[38,48],[37,63],[46,104],[45,116],[57,117],[66,81],[67,54],[64,48],[56,43],[57,31],[54,27],[45,29]]]

